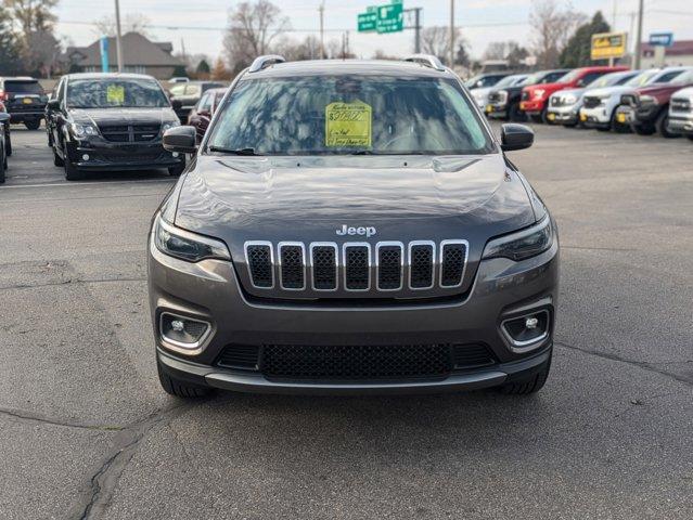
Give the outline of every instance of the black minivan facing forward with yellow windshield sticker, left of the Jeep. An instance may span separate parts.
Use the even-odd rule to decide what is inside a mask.
[[[48,143],[68,181],[87,171],[166,168],[180,174],[183,154],[164,150],[164,132],[180,125],[162,86],[139,74],[63,76],[46,109]]]

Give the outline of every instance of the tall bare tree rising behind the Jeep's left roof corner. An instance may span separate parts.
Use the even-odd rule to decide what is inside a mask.
[[[239,3],[229,13],[229,27],[223,38],[230,68],[238,72],[256,56],[271,52],[273,40],[288,27],[288,17],[269,0]]]

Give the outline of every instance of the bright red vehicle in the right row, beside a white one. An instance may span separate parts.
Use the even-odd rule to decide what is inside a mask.
[[[581,67],[574,68],[555,83],[530,84],[522,89],[519,109],[536,122],[547,122],[549,98],[564,89],[578,89],[609,73],[628,70],[628,67]]]

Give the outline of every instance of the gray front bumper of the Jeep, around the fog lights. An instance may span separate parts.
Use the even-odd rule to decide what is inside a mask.
[[[437,392],[485,388],[529,377],[550,356],[557,282],[555,240],[548,251],[522,262],[483,261],[473,288],[459,300],[392,306],[262,300],[244,291],[231,262],[189,263],[163,255],[151,240],[149,248],[150,307],[163,368],[179,379],[242,391]],[[548,334],[530,346],[517,348],[503,334],[501,323],[539,310],[550,314]],[[207,322],[211,332],[194,351],[183,353],[162,338],[157,325],[163,312]],[[348,347],[467,342],[487,346],[497,362],[483,368],[453,370],[442,379],[387,382],[277,381],[261,372],[216,366],[228,344]]]

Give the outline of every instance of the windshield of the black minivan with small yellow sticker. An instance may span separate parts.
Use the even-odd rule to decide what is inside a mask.
[[[74,79],[67,83],[70,108],[162,108],[168,100],[152,79]]]

